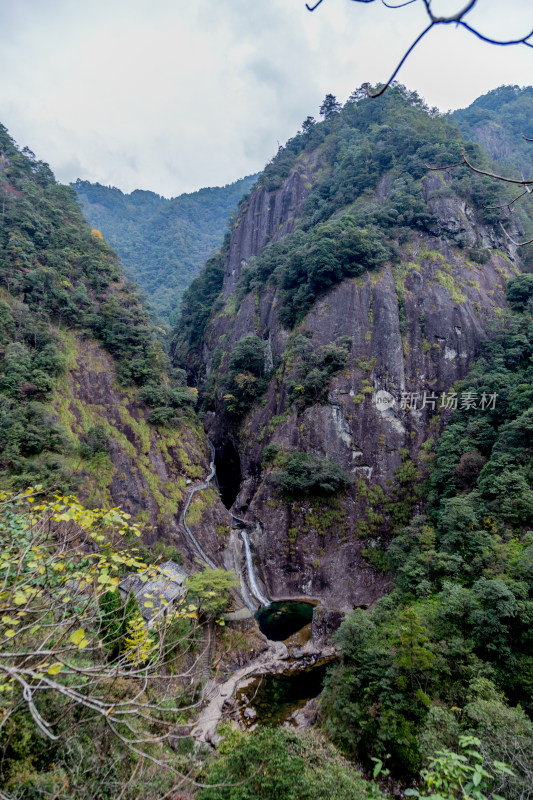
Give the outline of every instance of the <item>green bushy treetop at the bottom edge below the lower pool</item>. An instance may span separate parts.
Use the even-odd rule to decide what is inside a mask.
[[[199,800],[364,800],[368,784],[314,732],[230,731]],[[227,785],[225,785],[227,784]]]

